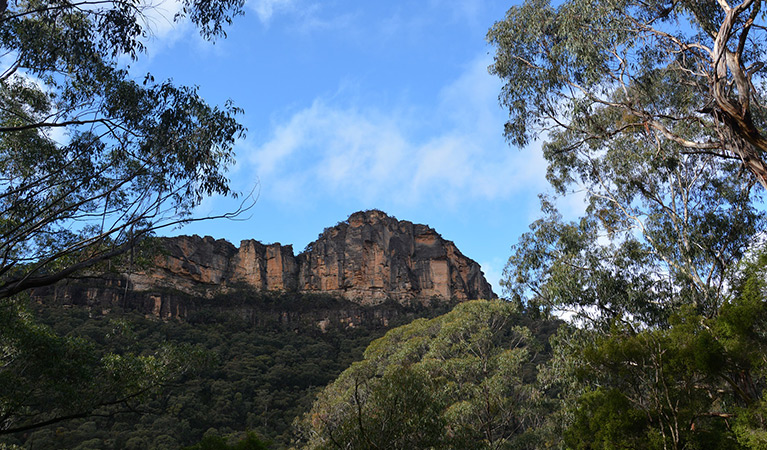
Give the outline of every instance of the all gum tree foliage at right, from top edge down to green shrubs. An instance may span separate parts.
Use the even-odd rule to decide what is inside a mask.
[[[564,223],[544,199],[513,293],[649,321],[681,303],[715,313],[764,227],[761,6],[531,0],[493,26],[508,139],[543,133],[555,191],[588,205]]]

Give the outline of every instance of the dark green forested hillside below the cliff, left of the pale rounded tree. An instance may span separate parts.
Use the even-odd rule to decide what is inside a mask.
[[[59,335],[83,338],[100,354],[152,354],[173,346],[194,367],[164,385],[160,395],[132,405],[133,410],[105,417],[96,413],[0,437],[0,442],[34,449],[177,449],[195,444],[205,433],[229,437],[254,431],[275,448],[285,448],[294,436],[293,421],[309,409],[317,392],[386,331],[379,323],[333,324],[324,331],[312,321],[254,324],[242,314],[244,307],[256,314],[269,314],[271,308],[295,313],[348,308],[329,296],[254,293],[236,303],[227,308],[225,298],[217,299],[185,321],[36,305],[42,324]],[[391,326],[448,310],[385,307],[394,308]]]

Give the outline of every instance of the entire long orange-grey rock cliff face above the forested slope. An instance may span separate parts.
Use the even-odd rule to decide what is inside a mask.
[[[298,255],[290,245],[253,240],[239,248],[198,236],[165,238],[162,244],[154,268],[129,275],[134,290],[210,296],[249,287],[327,293],[361,305],[392,299],[404,306],[495,297],[479,264],[452,242],[426,225],[375,210],[326,229]]]

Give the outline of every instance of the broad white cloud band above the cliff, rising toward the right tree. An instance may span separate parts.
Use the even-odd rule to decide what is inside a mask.
[[[518,151],[503,140],[505,115],[487,64],[486,58],[470,64],[430,110],[381,111],[317,99],[274,126],[242,161],[261,178],[263,195],[286,200],[341,196],[459,206],[537,192],[544,184],[540,152]]]

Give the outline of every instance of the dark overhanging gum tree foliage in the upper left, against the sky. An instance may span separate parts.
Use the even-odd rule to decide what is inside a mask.
[[[204,38],[242,0],[184,0]],[[191,220],[244,131],[230,102],[134,80],[119,61],[151,37],[152,3],[0,2],[0,297],[51,284]],[[161,19],[169,20],[169,19]],[[122,58],[122,59],[121,59]]]

